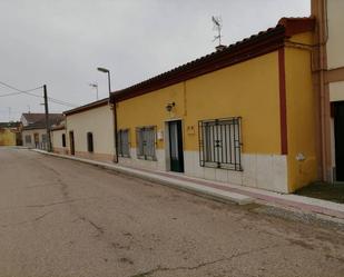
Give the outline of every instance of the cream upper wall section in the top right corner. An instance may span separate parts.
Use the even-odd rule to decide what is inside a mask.
[[[343,0],[327,0],[328,41],[326,47],[328,69],[344,67],[343,13]]]

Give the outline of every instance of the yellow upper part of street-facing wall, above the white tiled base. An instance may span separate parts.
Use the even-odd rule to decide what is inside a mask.
[[[176,103],[171,113],[165,109],[169,102]],[[166,120],[178,118],[184,119],[185,150],[198,150],[198,120],[240,116],[243,152],[281,154],[277,52],[121,101],[117,112],[118,128],[130,128],[132,147],[136,127],[164,130]]]

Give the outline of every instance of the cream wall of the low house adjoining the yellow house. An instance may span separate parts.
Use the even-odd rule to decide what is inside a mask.
[[[108,105],[67,115],[67,147],[69,132],[73,131],[76,156],[97,160],[112,160],[115,152],[112,110]],[[87,150],[87,132],[94,135],[94,152]]]

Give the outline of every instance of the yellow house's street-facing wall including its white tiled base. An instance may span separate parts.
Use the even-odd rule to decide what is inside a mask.
[[[176,106],[166,111],[169,102]],[[183,120],[185,174],[287,192],[287,157],[281,149],[278,53],[271,52],[118,103],[118,128],[130,130],[131,158],[121,164],[169,170],[166,121]],[[243,171],[199,166],[198,120],[242,117]],[[157,161],[136,158],[139,126],[157,126]]]

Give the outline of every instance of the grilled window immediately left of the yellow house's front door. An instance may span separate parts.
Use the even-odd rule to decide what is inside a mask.
[[[156,128],[139,127],[136,129],[137,158],[156,160]]]

